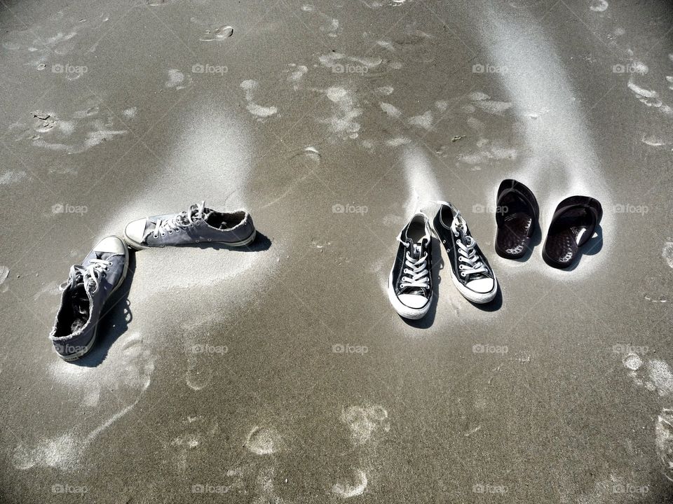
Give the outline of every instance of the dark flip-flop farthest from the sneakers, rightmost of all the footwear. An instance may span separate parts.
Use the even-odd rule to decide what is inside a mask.
[[[569,267],[580,246],[594,235],[602,216],[601,204],[592,197],[571,196],[560,202],[542,249],[545,262],[552,267]]]

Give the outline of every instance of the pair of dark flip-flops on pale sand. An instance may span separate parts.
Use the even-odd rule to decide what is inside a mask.
[[[504,180],[498,188],[496,252],[518,259],[529,248],[540,209],[532,191],[519,181]],[[569,267],[581,246],[594,235],[603,209],[589,196],[571,196],[559,203],[549,226],[542,257],[548,265]]]

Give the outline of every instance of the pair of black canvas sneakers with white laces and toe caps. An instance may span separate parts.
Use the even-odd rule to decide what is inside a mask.
[[[423,317],[433,300],[433,230],[449,256],[451,280],[465,298],[485,303],[493,300],[498,291],[493,270],[470,235],[461,212],[449,202],[439,203],[432,229],[426,214],[419,213],[397,237],[400,246],[388,277],[388,298],[395,311],[405,318]]]

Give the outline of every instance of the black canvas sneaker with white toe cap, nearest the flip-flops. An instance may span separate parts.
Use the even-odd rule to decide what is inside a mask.
[[[448,202],[439,202],[433,226],[451,262],[451,280],[468,300],[486,303],[496,297],[498,282],[477,241],[470,235],[461,212]]]

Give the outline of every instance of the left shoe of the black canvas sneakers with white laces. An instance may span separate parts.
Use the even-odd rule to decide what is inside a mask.
[[[421,318],[430,309],[433,299],[430,238],[430,222],[425,214],[413,216],[397,237],[400,246],[388,278],[388,298],[395,311],[405,318]]]

